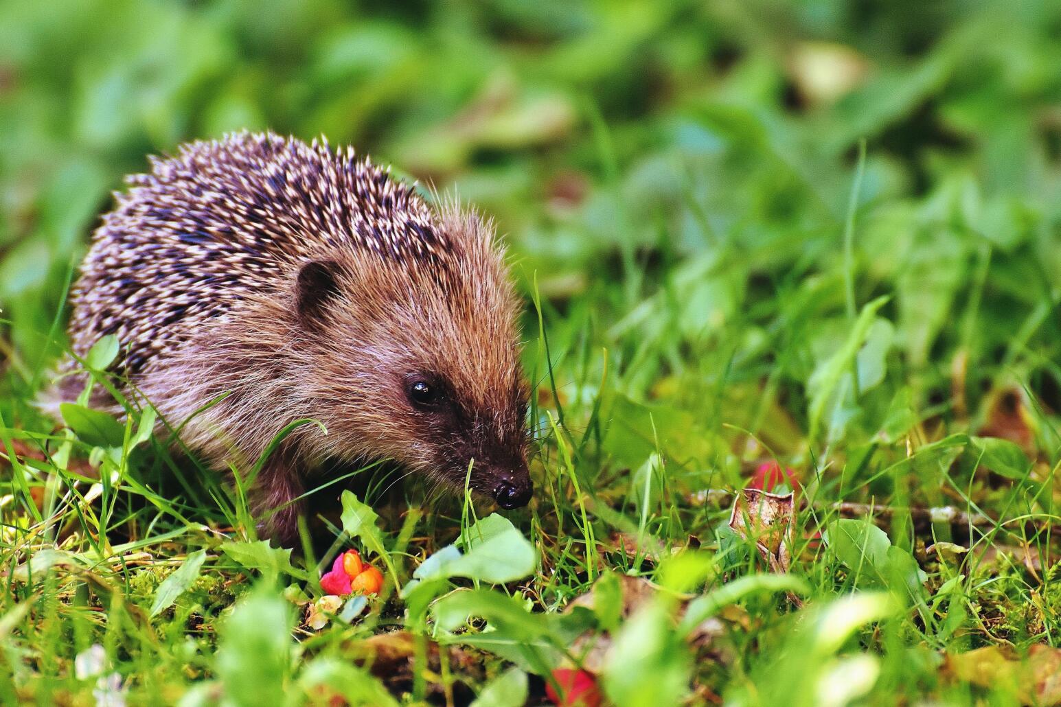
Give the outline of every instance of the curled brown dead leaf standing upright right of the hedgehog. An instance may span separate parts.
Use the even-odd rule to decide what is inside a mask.
[[[729,527],[755,544],[771,571],[782,573],[788,571],[792,562],[789,546],[794,517],[794,494],[744,489],[733,500]]]

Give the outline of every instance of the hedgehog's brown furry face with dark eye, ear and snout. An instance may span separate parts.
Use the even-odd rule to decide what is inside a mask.
[[[465,253],[463,269],[307,265],[302,325],[319,346],[309,373],[328,452],[386,457],[455,491],[466,481],[502,508],[532,495],[527,391],[517,302],[497,253]],[[470,476],[469,476],[470,470]]]

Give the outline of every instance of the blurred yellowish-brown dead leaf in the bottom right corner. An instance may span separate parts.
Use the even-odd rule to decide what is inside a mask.
[[[1024,704],[1061,704],[1061,651],[1036,644],[1026,658],[997,646],[946,656],[943,673],[982,688],[1009,687]]]

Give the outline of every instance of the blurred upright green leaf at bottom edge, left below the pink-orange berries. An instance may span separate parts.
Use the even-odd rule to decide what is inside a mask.
[[[288,602],[264,588],[236,605],[219,631],[215,670],[226,704],[273,705],[285,694],[294,649],[292,624]]]

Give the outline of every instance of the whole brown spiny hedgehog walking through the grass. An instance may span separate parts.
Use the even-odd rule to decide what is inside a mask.
[[[264,535],[297,537],[335,460],[528,502],[521,303],[489,220],[429,206],[351,147],[273,132],[185,144],[126,182],[71,290],[72,353],[116,335],[116,385],[218,470],[319,422],[253,480]],[[62,376],[54,402],[83,376]],[[121,412],[105,390],[91,404]]]

